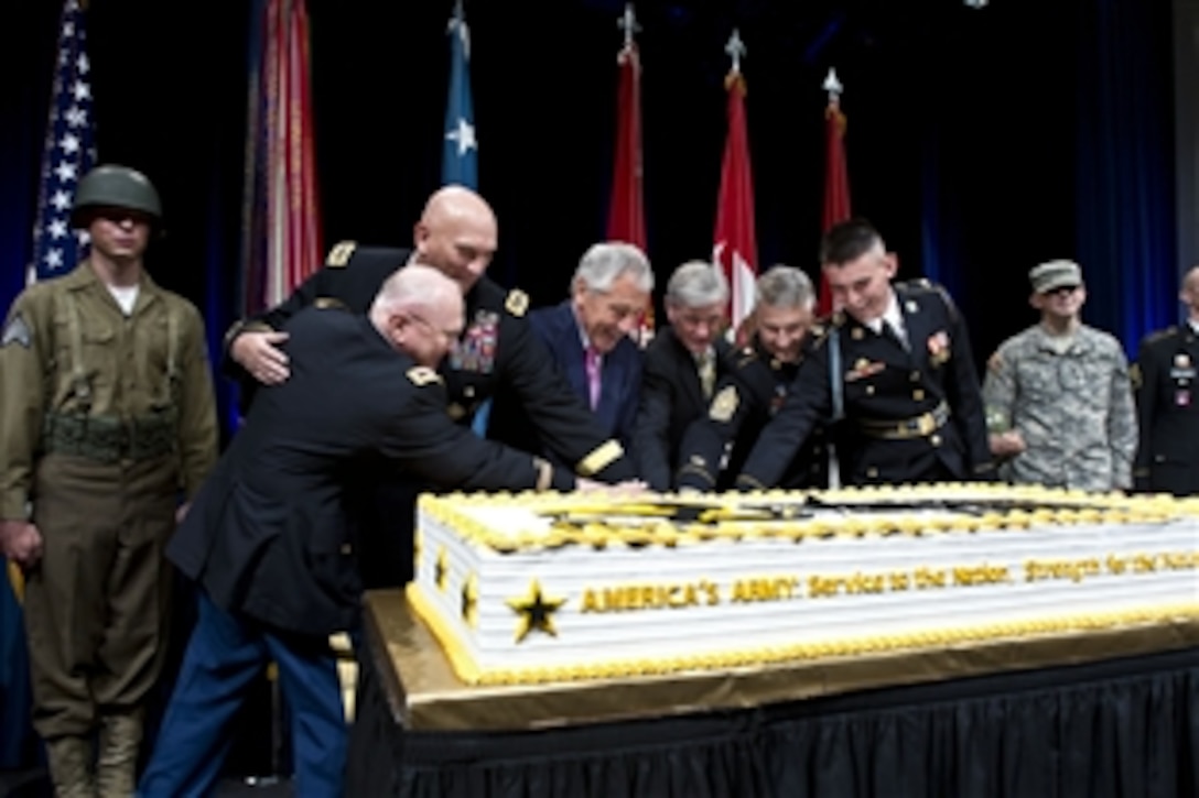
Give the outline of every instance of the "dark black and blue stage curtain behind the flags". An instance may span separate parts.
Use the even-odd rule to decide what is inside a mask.
[[[246,117],[245,4],[91,0],[101,161],[158,185],[161,283],[236,315]],[[326,241],[404,244],[436,187],[451,1],[309,0]],[[29,258],[60,4],[5,4],[0,301]],[[535,304],[565,296],[604,230],[615,117],[615,0],[468,0],[480,185],[500,219],[493,276]],[[815,272],[820,89],[845,84],[854,211],[905,277],[945,282],[978,356],[1034,321],[1028,270],[1083,261],[1087,320],[1129,353],[1173,322],[1170,7],[1144,0],[646,0],[650,256],[659,279],[711,252],[724,140],[724,42],[748,47],[759,262]],[[2,379],[2,377],[0,377]]]

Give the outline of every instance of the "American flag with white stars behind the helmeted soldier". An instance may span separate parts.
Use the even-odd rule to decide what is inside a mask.
[[[86,232],[71,229],[71,200],[96,162],[86,0],[66,0],[59,24],[58,61],[42,150],[30,282],[66,274],[83,255]]]

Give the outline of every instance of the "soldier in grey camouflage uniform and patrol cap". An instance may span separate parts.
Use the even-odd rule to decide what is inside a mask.
[[[1078,264],[1029,272],[1041,322],[1004,341],[983,382],[992,453],[1011,482],[1107,491],[1132,486],[1137,413],[1119,341],[1084,325]]]

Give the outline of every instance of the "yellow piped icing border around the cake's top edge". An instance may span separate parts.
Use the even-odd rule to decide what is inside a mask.
[[[499,533],[460,512],[462,507],[504,507],[518,504],[532,512],[548,508],[562,510],[620,514],[622,508],[645,510],[644,518],[653,518],[653,501],[645,497],[627,500],[598,500],[588,494],[550,492],[500,492],[500,494],[448,494],[420,497],[420,509],[434,520],[454,530],[468,543],[501,552],[541,551],[568,544],[590,545],[603,549],[614,545],[692,545],[705,540],[739,540],[752,537],[778,537],[800,542],[805,538],[867,537],[870,534],[952,534],[980,530],[1020,531],[1034,526],[1067,526],[1073,524],[1163,522],[1180,516],[1199,516],[1199,498],[1176,498],[1168,495],[1089,494],[1080,490],[1062,490],[1040,485],[1006,485],[992,483],[941,483],[936,485],[843,488],[823,491],[754,491],[737,494],[737,501],[727,495],[676,495],[663,494],[661,500],[673,504],[710,506],[723,503],[731,508],[740,503],[785,501],[796,502],[806,496],[819,496],[830,503],[852,507],[855,503],[878,504],[880,501],[915,503],[924,500],[970,501],[993,496],[996,500],[1040,503],[1043,508],[1028,512],[1022,508],[994,510],[981,516],[962,514],[959,518],[920,519],[897,509],[893,518],[840,518],[791,519],[781,521],[718,521],[716,524],[673,522],[645,524],[620,527],[602,521],[560,524],[546,533],[517,531]],[[880,498],[880,496],[882,498]]]

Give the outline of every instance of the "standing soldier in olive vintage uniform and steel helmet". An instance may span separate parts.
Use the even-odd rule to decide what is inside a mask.
[[[72,207],[90,256],[22,292],[0,338],[0,544],[25,570],[34,726],[59,796],[133,792],[163,548],[217,454],[204,322],[143,268],[159,216],[141,174],[90,171]]]

